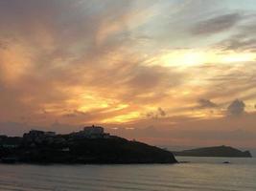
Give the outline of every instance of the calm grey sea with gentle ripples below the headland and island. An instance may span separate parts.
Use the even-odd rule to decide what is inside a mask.
[[[4,191],[256,191],[256,159],[177,158],[180,164],[0,165]],[[230,164],[223,164],[223,161]]]

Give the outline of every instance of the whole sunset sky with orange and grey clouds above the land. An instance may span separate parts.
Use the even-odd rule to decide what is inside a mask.
[[[256,148],[254,0],[0,0],[0,134],[85,125]]]

